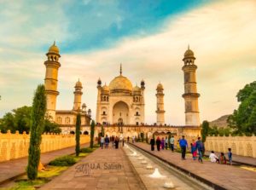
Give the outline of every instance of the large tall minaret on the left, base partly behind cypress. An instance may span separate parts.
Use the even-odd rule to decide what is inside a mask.
[[[46,54],[48,60],[44,61],[44,65],[46,67],[44,78],[45,95],[47,101],[46,114],[53,122],[55,122],[56,99],[57,95],[59,95],[59,92],[57,91],[58,70],[61,66],[61,63],[59,62],[61,55],[59,53],[60,50],[57,46],[55,46],[54,43],[49,47],[49,51]]]

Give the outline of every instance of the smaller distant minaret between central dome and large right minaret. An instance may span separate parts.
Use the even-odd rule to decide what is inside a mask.
[[[164,88],[161,83],[156,88],[156,124],[165,124]]]

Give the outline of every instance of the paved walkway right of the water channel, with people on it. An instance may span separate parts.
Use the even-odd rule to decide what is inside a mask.
[[[169,150],[152,152],[150,146],[142,142],[137,142],[134,145],[189,173],[191,176],[201,178],[202,181],[210,182],[210,184],[212,182],[212,185],[217,185],[218,189],[221,187],[223,189],[256,189],[256,172],[254,171],[209,161],[200,164],[198,161],[192,160],[190,155],[186,160],[182,160],[180,153],[172,153]]]

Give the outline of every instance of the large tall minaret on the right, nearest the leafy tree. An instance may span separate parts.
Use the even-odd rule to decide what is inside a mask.
[[[185,93],[183,98],[185,100],[185,114],[186,114],[186,125],[189,126],[200,126],[199,109],[198,109],[198,97],[200,94],[197,93],[196,89],[196,76],[195,71],[195,56],[194,52],[189,49],[184,54],[184,89]]]

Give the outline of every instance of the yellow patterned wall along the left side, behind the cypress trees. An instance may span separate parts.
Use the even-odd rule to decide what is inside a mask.
[[[0,132],[0,162],[10,159],[22,158],[28,155],[30,135],[25,132],[19,134],[11,134],[10,131],[6,134]],[[90,135],[80,135],[80,144],[90,141]],[[41,153],[59,150],[65,147],[75,146],[75,135],[57,135],[44,134],[42,135]]]

